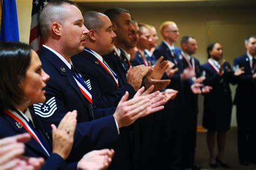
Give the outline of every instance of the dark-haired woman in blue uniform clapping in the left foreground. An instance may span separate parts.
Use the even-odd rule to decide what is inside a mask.
[[[0,139],[29,133],[24,155],[44,158],[42,169],[105,169],[110,164],[113,151],[109,149],[92,151],[79,162],[66,164],[73,145],[76,111],[67,113],[58,128],[51,125],[52,144],[36,115],[29,112],[29,105],[45,101],[43,88],[49,80],[29,45],[0,42],[0,79]]]

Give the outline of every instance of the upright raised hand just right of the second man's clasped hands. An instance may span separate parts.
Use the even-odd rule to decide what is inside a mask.
[[[169,69],[168,61],[165,60],[164,62],[161,62],[163,59],[164,59],[164,57],[161,56],[161,57],[157,60],[157,63],[154,65],[153,71],[152,71],[152,74],[151,74],[151,77],[152,77],[153,79],[160,80],[160,79],[163,77],[164,72],[165,72],[167,69]]]

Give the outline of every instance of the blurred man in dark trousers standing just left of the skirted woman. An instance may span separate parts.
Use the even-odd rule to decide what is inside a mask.
[[[184,36],[181,38],[180,45],[183,69],[194,71],[194,77],[183,80],[186,104],[184,119],[187,122],[184,124],[186,144],[184,145],[183,160],[186,167],[194,167],[198,114],[197,94],[210,92],[211,87],[203,87],[203,84],[200,84],[205,76],[201,76],[199,60],[192,56],[198,49],[197,40],[191,36]]]

